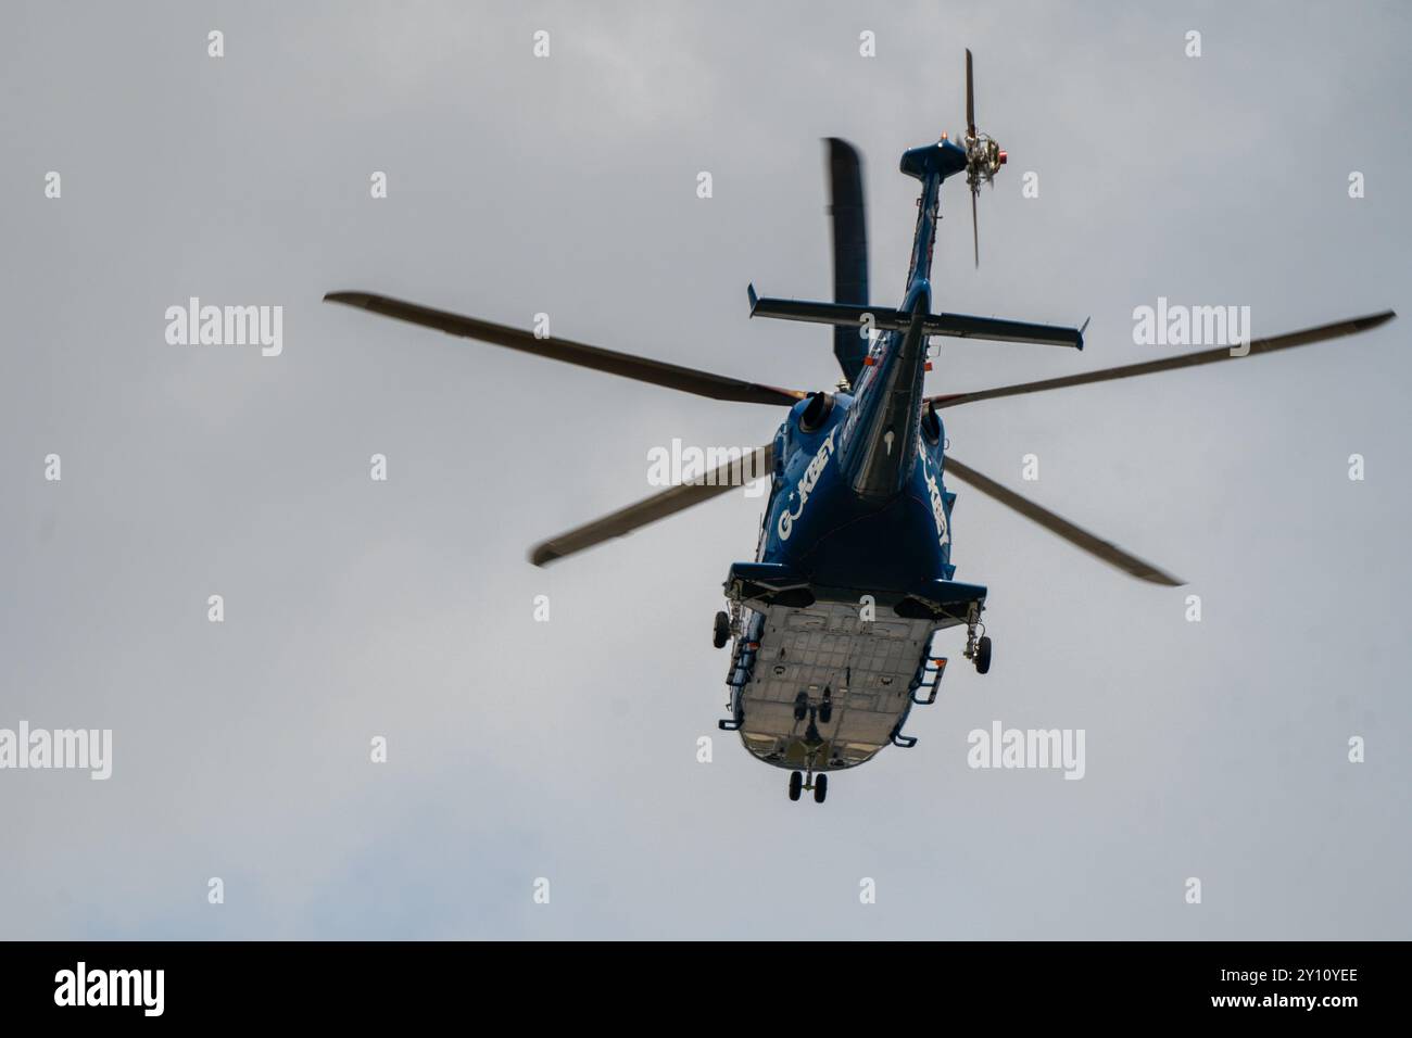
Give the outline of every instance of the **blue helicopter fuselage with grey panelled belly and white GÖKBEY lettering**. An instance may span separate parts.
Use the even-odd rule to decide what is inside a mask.
[[[791,410],[755,562],[726,582],[738,634],[723,727],[810,782],[914,741],[902,726],[929,681],[935,698],[945,667],[932,636],[984,607],[984,587],[952,580],[955,496],[945,428],[921,411],[923,354],[923,336],[888,333],[858,395],[816,394]]]

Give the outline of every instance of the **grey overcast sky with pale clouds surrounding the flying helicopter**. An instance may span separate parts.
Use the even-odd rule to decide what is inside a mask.
[[[0,936],[1412,936],[1409,45],[1392,3],[13,6],[0,727],[112,729],[113,775],[0,771]],[[1404,316],[949,411],[959,458],[1189,586],[953,486],[990,675],[950,633],[918,746],[791,804],[716,730],[762,500],[525,561],[650,493],[650,448],[781,414],[321,297],[832,387],[827,329],[750,322],[746,284],[827,297],[832,134],[901,299],[898,157],[964,126],[964,47],[1010,164],[979,271],[943,189],[936,305],[1093,322],[1082,354],[949,342],[929,390],[1182,352],[1132,342],[1158,297],[1257,335]],[[282,306],[282,353],[168,345],[189,297]],[[1084,778],[969,768],[993,720],[1083,729]]]

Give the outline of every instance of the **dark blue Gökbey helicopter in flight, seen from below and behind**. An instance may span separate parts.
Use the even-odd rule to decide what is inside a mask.
[[[979,674],[991,667],[983,614],[987,587],[955,579],[955,477],[1032,520],[1083,552],[1132,578],[1161,586],[1183,582],[1075,525],[963,463],[949,451],[940,411],[1003,397],[1155,374],[1274,353],[1377,328],[1384,311],[1288,335],[1248,339],[1240,349],[1168,356],[1120,367],[970,393],[928,395],[933,336],[1034,343],[1082,350],[1077,326],[935,314],[932,254],[940,188],[964,175],[971,241],[980,266],[976,203],[1008,155],[976,129],[973,59],[966,51],[966,131],[902,154],[901,172],[921,182],[907,290],[897,308],[868,302],[863,162],[857,150],[827,138],[833,301],[761,297],[747,288],[751,318],[829,325],[842,378],[832,391],[802,391],[733,378],[599,346],[538,335],[361,291],[325,301],[397,318],[449,335],[722,401],[785,407],[774,439],[757,449],[770,494],[753,561],[734,562],[723,583],[726,609],[714,616],[716,648],[731,644],[730,716],[758,760],[789,771],[788,794],[825,802],[829,774],[864,764],[888,746],[909,748],[912,706],[936,702],[947,658],[933,654],[940,631],[966,628],[963,655]],[[623,537],[726,493],[741,480],[740,460],[700,473],[609,515],[535,545],[544,566]]]

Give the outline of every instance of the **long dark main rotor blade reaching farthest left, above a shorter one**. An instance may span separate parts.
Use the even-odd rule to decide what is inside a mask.
[[[664,360],[648,360],[631,353],[617,353],[597,346],[586,346],[569,339],[537,339],[532,332],[522,332],[507,325],[493,325],[489,321],[465,318],[431,306],[419,306],[415,302],[393,299],[387,295],[371,292],[329,292],[325,302],[342,302],[347,306],[359,306],[398,321],[408,321],[424,328],[435,328],[448,335],[459,335],[465,339],[479,339],[480,342],[505,346],[521,353],[534,353],[549,360],[562,360],[566,364],[592,367],[596,371],[607,371],[624,378],[635,378],[641,383],[666,386],[668,388],[695,393],[699,397],[712,400],[734,400],[746,404],[784,404],[794,405],[808,394],[799,390],[781,390],[774,386],[730,378],[710,371],[699,371],[693,367],[668,364]]]

